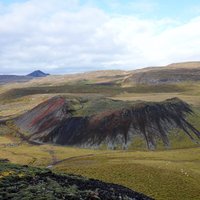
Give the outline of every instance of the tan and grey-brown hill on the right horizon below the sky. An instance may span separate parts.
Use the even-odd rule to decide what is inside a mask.
[[[174,63],[133,71],[124,79],[125,84],[173,84],[200,81],[200,62]]]

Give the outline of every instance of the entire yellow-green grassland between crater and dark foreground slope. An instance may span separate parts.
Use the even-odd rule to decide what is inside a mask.
[[[111,151],[26,143],[0,137],[0,158],[127,186],[156,199],[199,199],[200,148]],[[7,145],[5,145],[7,144]],[[14,145],[10,145],[14,144]]]

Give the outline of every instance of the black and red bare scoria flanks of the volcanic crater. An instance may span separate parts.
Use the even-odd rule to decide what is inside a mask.
[[[16,119],[16,125],[30,133],[32,141],[75,146],[127,148],[135,134],[141,135],[148,149],[156,148],[156,140],[169,146],[168,132],[183,130],[192,140],[200,133],[187,120],[190,106],[178,98],[160,103],[138,103],[130,107],[108,110],[92,116],[76,117],[63,97],[54,97]]]

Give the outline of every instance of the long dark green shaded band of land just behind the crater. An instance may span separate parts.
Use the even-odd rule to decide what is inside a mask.
[[[66,84],[61,86],[39,86],[27,88],[15,88],[1,94],[0,101],[9,102],[14,99],[36,94],[104,94],[115,96],[120,93],[165,93],[183,92],[185,89],[179,85],[135,85],[131,87],[121,87],[120,84],[100,85],[100,84]]]

